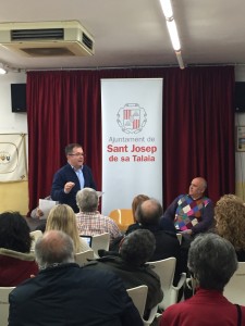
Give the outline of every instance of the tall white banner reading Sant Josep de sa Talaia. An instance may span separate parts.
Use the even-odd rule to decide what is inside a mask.
[[[162,79],[101,79],[102,213],[162,202]]]

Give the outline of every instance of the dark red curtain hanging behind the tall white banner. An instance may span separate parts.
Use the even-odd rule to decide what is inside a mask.
[[[234,67],[28,72],[29,210],[50,193],[69,142],[83,145],[101,189],[100,79],[152,77],[163,78],[164,206],[199,175],[213,201],[234,192]]]

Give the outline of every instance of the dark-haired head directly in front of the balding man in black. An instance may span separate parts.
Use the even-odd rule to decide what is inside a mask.
[[[124,261],[140,266],[152,256],[156,249],[155,236],[147,229],[137,229],[127,235],[120,248]]]

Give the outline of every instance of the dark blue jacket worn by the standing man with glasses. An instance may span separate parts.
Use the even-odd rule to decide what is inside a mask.
[[[94,177],[91,174],[90,167],[87,165],[83,166],[84,174],[84,187],[89,187],[96,190],[96,184],[94,181]],[[72,190],[69,193],[64,192],[64,185],[69,181],[75,184]],[[75,213],[78,213],[78,208],[76,205],[76,192],[81,190],[79,180],[75,171],[72,168],[70,164],[61,167],[53,176],[52,189],[51,189],[51,198],[52,200],[59,201],[60,203],[64,203],[70,205]]]

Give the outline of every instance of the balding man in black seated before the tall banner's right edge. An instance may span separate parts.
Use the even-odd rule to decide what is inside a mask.
[[[160,229],[159,221],[162,215],[162,206],[156,199],[148,199],[138,204],[136,218],[142,229],[150,230],[156,239],[156,250],[149,261],[164,260],[170,256],[176,258],[174,285],[179,281],[182,272],[185,272],[186,263],[182,261],[181,246],[173,233]],[[130,234],[130,227],[126,234]]]

